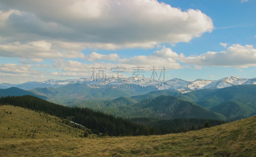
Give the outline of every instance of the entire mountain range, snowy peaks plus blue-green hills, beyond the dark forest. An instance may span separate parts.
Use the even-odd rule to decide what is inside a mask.
[[[255,78],[230,76],[215,81],[133,79],[26,82],[15,86],[23,89],[36,88],[0,89],[0,96],[34,95],[54,103],[89,107],[124,118],[142,116],[160,119],[185,117],[227,120],[256,115]],[[7,85],[12,86],[1,84]],[[189,112],[185,113],[185,110]]]

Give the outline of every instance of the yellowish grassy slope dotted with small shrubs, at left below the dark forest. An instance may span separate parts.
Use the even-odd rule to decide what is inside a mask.
[[[0,138],[3,139],[71,138],[82,132],[61,123],[59,117],[10,105],[0,106]]]

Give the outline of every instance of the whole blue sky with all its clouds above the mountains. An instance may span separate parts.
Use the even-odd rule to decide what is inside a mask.
[[[0,0],[0,83],[256,78],[255,7],[255,0]]]

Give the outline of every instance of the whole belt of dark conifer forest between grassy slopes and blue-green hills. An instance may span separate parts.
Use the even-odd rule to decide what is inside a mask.
[[[67,116],[74,116],[73,121],[84,125],[92,130],[93,133],[109,136],[136,136],[136,135],[160,135],[167,133],[178,133],[189,130],[203,128],[206,120],[197,119],[179,119],[173,121],[157,121],[153,119],[140,118],[140,120],[129,120],[121,117],[114,117],[100,111],[94,111],[91,108],[67,107],[42,100],[35,96],[6,96],[0,98],[2,105],[15,105],[23,108],[29,108],[36,111],[42,111],[53,116],[66,119]],[[185,123],[183,123],[185,122]],[[222,124],[222,121],[210,121],[214,125]]]

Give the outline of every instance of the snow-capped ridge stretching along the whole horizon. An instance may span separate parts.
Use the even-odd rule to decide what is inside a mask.
[[[224,88],[234,85],[245,85],[245,84],[256,84],[256,78],[253,79],[244,79],[236,76],[228,76],[219,80],[205,80],[205,79],[196,79],[195,81],[186,81],[178,78],[171,80],[153,80],[149,78],[103,78],[103,79],[94,79],[91,78],[80,78],[80,79],[68,79],[68,80],[56,80],[49,79],[43,82],[28,81],[23,84],[0,84],[0,88],[9,88],[11,86],[18,87],[21,89],[34,89],[37,87],[60,87],[68,84],[87,84],[87,86],[106,86],[106,85],[121,85],[121,84],[133,84],[137,86],[150,86],[150,89],[154,88],[156,90],[179,90],[182,92],[189,92],[197,89],[203,88]]]

